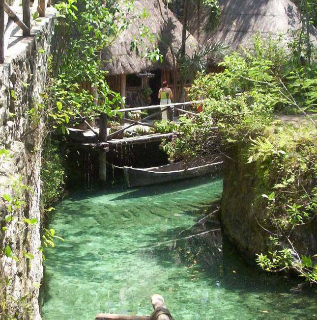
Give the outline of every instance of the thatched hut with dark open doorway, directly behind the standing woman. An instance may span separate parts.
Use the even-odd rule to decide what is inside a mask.
[[[174,92],[179,92],[177,88],[173,88],[179,86],[175,79],[176,65],[173,53],[175,48],[181,45],[182,24],[162,0],[135,0],[133,5],[132,23],[113,45],[103,49],[103,68],[109,72],[107,81],[110,87],[126,97],[127,105],[156,104],[157,93],[163,80],[169,82]],[[144,19],[136,18],[144,9],[148,16]],[[134,37],[140,34],[140,26],[148,28],[149,33],[154,35],[154,43],[150,44],[145,40],[140,47],[141,53],[136,54],[130,50],[130,44]],[[197,47],[197,41],[189,33],[187,36],[186,50],[190,53]],[[151,45],[159,48],[163,55],[163,63],[152,62],[142,56],[144,47]],[[146,94],[150,94],[150,97],[146,98]]]

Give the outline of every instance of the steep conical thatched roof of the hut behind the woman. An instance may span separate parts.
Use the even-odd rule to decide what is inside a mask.
[[[145,8],[146,12],[149,13],[149,17],[141,21],[134,19],[115,43],[103,50],[102,58],[106,61],[104,69],[108,70],[110,75],[134,74],[153,69],[172,70],[173,60],[169,43],[180,47],[182,24],[172,11],[164,6],[162,0],[135,0],[133,5],[135,7],[134,15],[141,13]],[[134,35],[139,34],[139,27],[142,23],[149,28],[151,33],[158,37],[156,43],[163,54],[163,63],[153,63],[147,58],[130,51],[130,42]],[[189,36],[186,47],[189,53],[193,52],[194,48],[197,47],[197,41],[193,36]]]

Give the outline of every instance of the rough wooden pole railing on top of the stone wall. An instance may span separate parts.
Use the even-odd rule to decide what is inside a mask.
[[[14,23],[22,29],[23,36],[29,36],[31,34],[31,13],[37,11],[40,17],[45,17],[47,6],[50,6],[50,0],[34,0],[31,8],[30,0],[22,0],[21,19],[17,13],[20,0],[15,0],[12,6],[8,5],[5,0],[0,0],[0,63],[4,62]]]

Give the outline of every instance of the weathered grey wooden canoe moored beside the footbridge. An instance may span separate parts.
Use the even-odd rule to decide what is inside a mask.
[[[124,176],[128,187],[141,187],[156,185],[164,182],[190,179],[219,172],[223,161],[208,163],[204,165],[184,167],[181,162],[138,169],[133,167],[123,167]]]

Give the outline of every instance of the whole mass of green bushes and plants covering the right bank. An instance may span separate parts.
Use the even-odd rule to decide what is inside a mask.
[[[266,202],[267,212],[259,223],[271,242],[268,252],[259,252],[259,265],[296,269],[316,283],[316,257],[299,256],[293,238],[317,213],[317,130],[311,116],[317,111],[317,67],[313,60],[310,66],[300,61],[295,42],[289,50],[282,43],[257,36],[253,50],[224,59],[223,73],[200,74],[190,94],[204,99],[203,111],[198,118],[183,117],[179,135],[164,148],[171,159],[186,161],[231,156],[234,149],[240,160],[255,164],[261,181],[255,203]],[[283,123],[277,120],[281,112],[301,114],[305,124]]]

